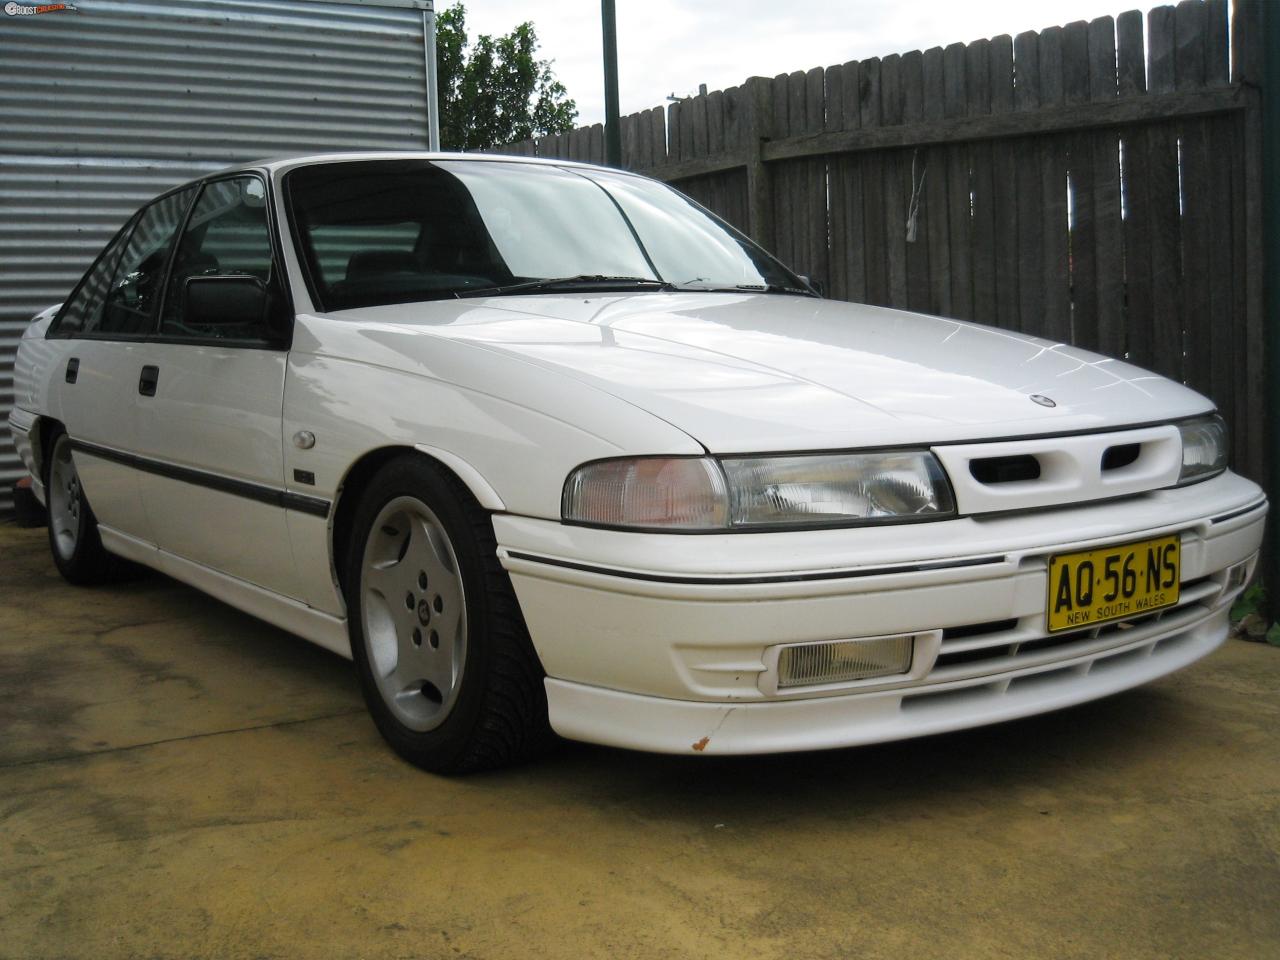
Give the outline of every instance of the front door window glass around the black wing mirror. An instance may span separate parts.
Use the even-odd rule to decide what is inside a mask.
[[[234,177],[205,187],[178,243],[160,334],[201,339],[260,339],[261,325],[201,325],[184,316],[192,276],[256,276],[271,282],[271,234],[266,187],[257,177]]]

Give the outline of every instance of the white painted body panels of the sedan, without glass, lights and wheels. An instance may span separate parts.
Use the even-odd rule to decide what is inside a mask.
[[[372,156],[385,155],[352,159]],[[278,182],[316,160],[255,169]],[[278,189],[275,202],[283,223]],[[1253,483],[1228,472],[1175,486],[1170,422],[1212,411],[1210,401],[1121,361],[764,293],[541,294],[325,315],[288,236],[282,246],[298,311],[287,353],[45,339],[49,316],[37,319],[18,353],[19,452],[38,480],[32,438],[49,419],[79,439],[332,502],[315,516],[76,454],[109,549],[347,655],[333,517],[352,495],[348,475],[387,448],[438,460],[493,512],[566,736],[671,751],[817,749],[1102,696],[1221,643],[1240,586],[1228,572],[1252,564],[1261,541],[1266,502]],[[73,398],[70,356],[104,379],[110,402]],[[137,397],[143,362],[182,371],[163,408]],[[293,444],[298,431],[315,445]],[[1134,442],[1142,460],[1103,476],[1101,452]],[[593,460],[868,447],[933,449],[961,516],[691,536],[559,522],[567,475]],[[1043,456],[1043,483],[969,476],[969,460],[1014,453]],[[1016,621],[1009,643],[1043,637],[1050,554],[1160,534],[1181,536],[1194,609],[1120,640],[910,684],[771,685],[783,643],[1001,621]]]

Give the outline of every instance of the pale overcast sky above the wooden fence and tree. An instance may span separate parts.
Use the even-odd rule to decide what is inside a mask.
[[[750,76],[828,67],[1001,33],[1088,20],[1157,4],[1134,0],[616,0],[622,114],[668,93],[723,90]],[[438,0],[444,10],[453,0]],[[541,56],[577,101],[579,123],[604,119],[600,4],[467,0],[467,27],[506,33],[532,20]]]

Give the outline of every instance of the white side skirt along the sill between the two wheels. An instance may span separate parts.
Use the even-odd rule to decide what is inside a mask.
[[[347,621],[321,613],[305,603],[291,600],[270,590],[237,580],[200,563],[193,563],[143,540],[137,540],[109,526],[99,525],[102,547],[111,553],[159,570],[161,573],[180,580],[215,599],[221,600],[251,617],[266,621],[274,627],[287,630],[303,640],[332,650],[339,657],[351,659],[351,639],[347,636]]]

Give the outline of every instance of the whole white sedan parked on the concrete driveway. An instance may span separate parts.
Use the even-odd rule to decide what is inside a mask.
[[[1185,387],[823,300],[653,180],[312,156],[142,207],[17,358],[76,584],[351,657],[429,769],[813,750],[1203,657],[1267,503]]]

